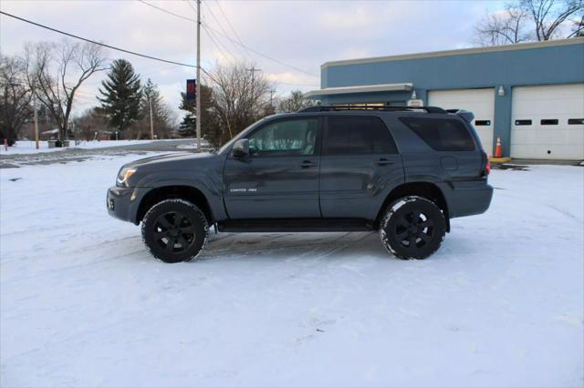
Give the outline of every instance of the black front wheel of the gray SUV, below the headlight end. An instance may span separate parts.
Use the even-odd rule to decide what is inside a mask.
[[[193,260],[209,234],[201,209],[183,199],[166,199],[152,206],[141,230],[152,256],[171,263]]]

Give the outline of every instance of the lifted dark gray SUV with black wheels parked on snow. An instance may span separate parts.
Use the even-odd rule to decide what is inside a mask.
[[[424,259],[450,219],[488,209],[488,158],[474,116],[439,107],[309,107],[266,117],[212,153],[120,169],[110,215],[141,223],[154,257],[193,260],[209,226],[229,232],[379,230]]]

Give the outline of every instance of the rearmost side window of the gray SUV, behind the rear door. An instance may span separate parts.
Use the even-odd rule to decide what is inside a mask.
[[[474,150],[472,135],[468,128],[458,120],[449,118],[401,117],[400,121],[437,151]]]

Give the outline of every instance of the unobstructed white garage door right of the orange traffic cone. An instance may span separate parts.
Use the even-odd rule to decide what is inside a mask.
[[[514,87],[511,157],[584,158],[584,84]]]

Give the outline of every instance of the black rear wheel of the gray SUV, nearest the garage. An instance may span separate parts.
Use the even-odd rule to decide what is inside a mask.
[[[400,259],[425,259],[438,250],[446,221],[442,210],[422,197],[398,199],[381,221],[381,243]]]

